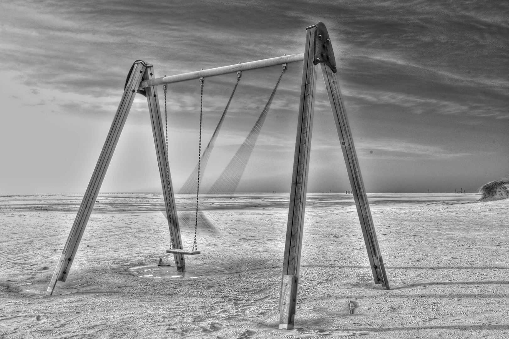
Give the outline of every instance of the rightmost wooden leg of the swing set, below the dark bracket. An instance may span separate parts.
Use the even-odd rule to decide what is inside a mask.
[[[355,152],[350,126],[348,125],[340,85],[337,82],[336,74],[332,72],[330,67],[325,64],[320,65],[322,67],[327,95],[329,96],[332,115],[336,122],[337,135],[340,137],[341,141],[341,149],[343,150],[343,157],[345,158],[348,177],[350,178],[352,186],[352,193],[355,200],[355,206],[357,207],[357,214],[359,215],[360,227],[366,244],[367,256],[370,259],[373,279],[375,280],[375,284],[382,284],[382,286],[388,290],[389,282],[387,281],[387,274],[385,273],[385,266],[380,252],[380,246],[378,245],[370,205],[367,202],[364,182],[360,175],[359,161],[357,160],[357,153]]]

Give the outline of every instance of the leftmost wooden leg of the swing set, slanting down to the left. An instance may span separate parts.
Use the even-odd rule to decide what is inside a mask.
[[[124,127],[132,102],[134,101],[136,91],[142,81],[145,68],[146,65],[143,61],[136,61],[133,65],[119,108],[117,109],[117,113],[115,114],[115,118],[109,129],[108,136],[106,137],[106,141],[102,147],[101,155],[97,161],[97,165],[94,169],[94,173],[92,174],[92,178],[90,179],[87,191],[85,192],[81,205],[79,206],[78,213],[74,219],[74,224],[72,225],[71,232],[67,238],[62,255],[58,264],[56,264],[55,272],[51,277],[51,282],[49,283],[46,295],[51,295],[53,293],[53,289],[55,288],[57,281],[65,282],[67,279],[76,251],[78,250],[79,242],[83,236],[87,222],[89,221],[90,213],[92,213],[92,208],[94,207],[104,175],[108,169],[111,156],[113,155],[117,142],[119,141],[120,133]]]

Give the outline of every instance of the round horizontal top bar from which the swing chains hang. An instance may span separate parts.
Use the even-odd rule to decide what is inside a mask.
[[[189,72],[189,73],[183,73],[183,74],[177,74],[177,75],[170,75],[170,76],[162,77],[162,78],[145,80],[145,81],[142,81],[142,83],[140,84],[140,88],[144,88],[147,86],[163,85],[165,83],[173,83],[173,82],[180,82],[180,81],[186,81],[186,80],[192,80],[192,79],[200,79],[202,77],[204,77],[204,78],[213,77],[216,75],[235,73],[238,71],[254,70],[257,68],[264,68],[264,67],[270,67],[270,66],[276,66],[276,65],[282,65],[282,64],[298,63],[299,61],[302,61],[302,60],[304,60],[304,53],[278,56],[278,57],[273,57],[270,59],[250,61],[249,63],[223,66],[223,67],[211,68],[208,70],[195,71],[195,72]]]

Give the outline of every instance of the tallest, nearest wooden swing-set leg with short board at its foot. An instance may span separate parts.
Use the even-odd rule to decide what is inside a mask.
[[[279,329],[293,328],[297,300],[297,282],[306,205],[307,170],[309,168],[309,150],[313,129],[313,106],[316,85],[316,67],[313,63],[314,35],[315,26],[307,27],[285,257],[279,298]]]

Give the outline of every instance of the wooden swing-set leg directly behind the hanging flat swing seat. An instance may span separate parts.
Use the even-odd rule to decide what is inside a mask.
[[[154,67],[147,65],[144,80],[154,78]],[[152,132],[154,134],[154,144],[156,146],[157,164],[159,165],[159,174],[161,176],[162,192],[164,196],[164,205],[166,207],[166,219],[168,220],[169,231],[173,237],[176,249],[182,249],[182,238],[180,235],[179,219],[177,218],[177,209],[175,208],[175,194],[173,191],[172,175],[169,172],[169,163],[164,142],[164,130],[161,119],[161,110],[159,108],[159,98],[157,97],[157,88],[149,86],[145,88],[147,102],[149,104],[150,121],[152,122]],[[185,272],[185,259],[182,254],[174,254],[175,265],[178,272]]]

